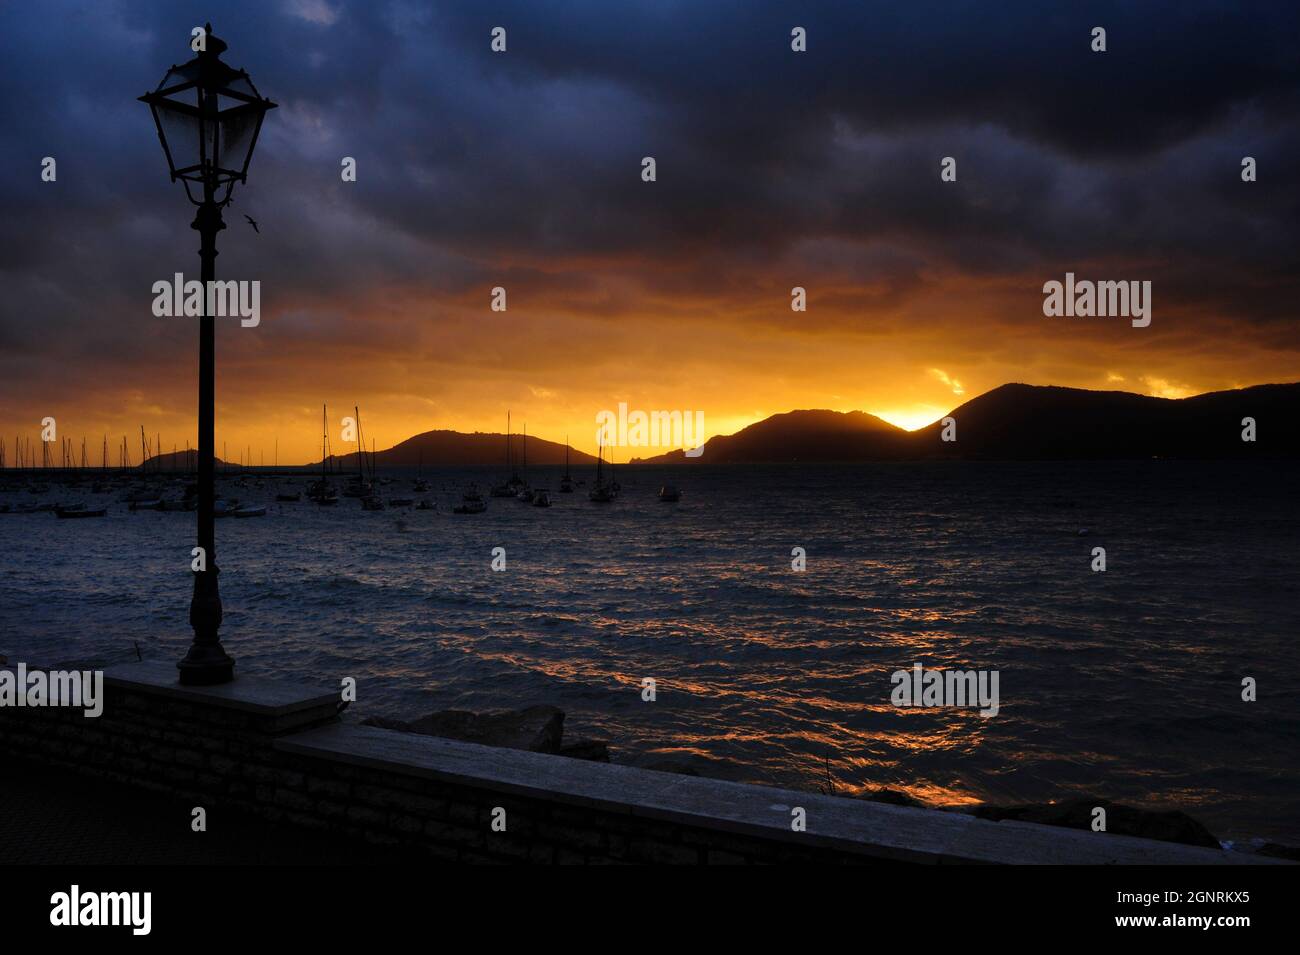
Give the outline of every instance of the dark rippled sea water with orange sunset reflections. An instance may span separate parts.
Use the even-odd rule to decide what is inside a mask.
[[[682,500],[662,504],[670,472],[628,468],[612,505],[580,487],[477,516],[450,505],[495,476],[439,472],[437,512],[344,499],[220,521],[222,637],[240,672],[358,677],[369,713],[554,703],[620,761],[944,803],[1088,794],[1296,845],[1296,470],[706,466],[673,472]],[[255,485],[226,491],[270,502],[276,482]],[[386,491],[412,496],[410,476]],[[10,660],[183,654],[194,515],[120,494],[44,495],[107,503],[103,520],[0,515]],[[918,661],[998,670],[1001,712],[894,708],[889,674]]]

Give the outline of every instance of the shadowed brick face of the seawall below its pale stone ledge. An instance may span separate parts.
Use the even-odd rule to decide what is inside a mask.
[[[337,721],[333,704],[269,715],[109,681],[98,719],[86,719],[79,709],[0,709],[0,754],[174,795],[204,807],[209,817],[229,808],[341,838],[417,850],[433,860],[870,861],[855,854],[567,806],[274,747],[277,739]],[[410,742],[419,746],[422,741]],[[563,756],[528,755],[592,768]],[[506,811],[504,832],[491,828],[495,807]]]

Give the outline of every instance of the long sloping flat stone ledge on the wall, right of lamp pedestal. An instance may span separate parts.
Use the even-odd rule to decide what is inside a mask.
[[[282,752],[486,789],[614,815],[907,863],[1239,865],[1282,860],[957,812],[571,760],[372,726],[335,724],[282,737]],[[790,809],[807,832],[790,830]]]

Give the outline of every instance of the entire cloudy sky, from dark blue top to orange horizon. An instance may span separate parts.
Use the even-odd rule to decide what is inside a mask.
[[[198,236],[135,97],[205,19],[280,104],[218,239],[263,311],[218,325],[218,453],[308,460],[324,401],[381,447],[514,409],[594,450],[619,401],[914,427],[1008,381],[1300,378],[1292,3],[8,3],[10,455],[47,414],[194,440],[195,324],[151,286]],[[1066,272],[1150,281],[1150,326],[1044,317]]]

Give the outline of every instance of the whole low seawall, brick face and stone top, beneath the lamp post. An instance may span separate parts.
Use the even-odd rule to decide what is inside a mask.
[[[333,693],[246,676],[181,687],[165,664],[109,670],[104,696],[98,719],[0,708],[0,755],[176,795],[209,819],[252,813],[443,861],[1243,860],[361,726],[339,719]]]

